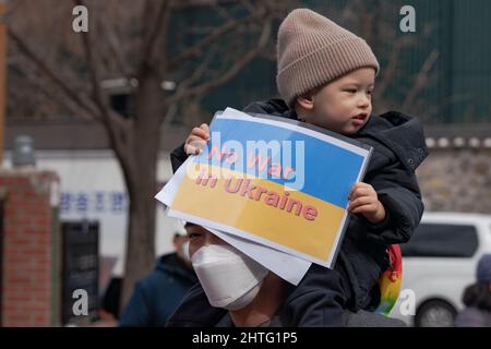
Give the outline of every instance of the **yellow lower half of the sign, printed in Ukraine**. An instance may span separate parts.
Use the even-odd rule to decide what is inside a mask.
[[[342,207],[302,192],[285,191],[282,184],[251,176],[244,178],[244,173],[231,170],[217,178],[185,176],[171,208],[235,227],[325,262],[345,213]]]

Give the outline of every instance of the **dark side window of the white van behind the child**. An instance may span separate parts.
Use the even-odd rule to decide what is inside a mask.
[[[400,249],[404,257],[471,257],[478,234],[474,226],[421,224]]]

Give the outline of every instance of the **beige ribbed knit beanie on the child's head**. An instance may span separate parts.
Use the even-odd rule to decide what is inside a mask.
[[[380,67],[370,46],[323,15],[297,9],[283,21],[276,47],[276,84],[290,106],[295,99],[359,68]]]

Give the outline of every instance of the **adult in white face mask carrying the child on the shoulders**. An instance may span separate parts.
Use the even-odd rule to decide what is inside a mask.
[[[258,262],[251,261],[250,257],[242,254],[240,251],[230,246],[226,241],[220,238],[214,236],[207,229],[188,222],[185,226],[188,236],[190,237],[190,248],[189,253],[191,258],[193,255],[197,253],[204,248],[211,248],[212,245],[221,245],[227,246],[226,250],[235,251],[232,254],[238,253],[241,255],[241,260],[246,262],[248,266],[252,266],[253,264],[258,264]],[[224,251],[224,250],[221,250]],[[196,261],[203,258],[203,254],[196,257]],[[221,262],[219,262],[221,260]],[[237,261],[228,260],[232,265],[237,265]],[[227,263],[224,260],[224,255],[221,258],[215,260],[214,265],[216,263],[225,263],[221,264],[221,269],[225,272],[224,266]],[[201,266],[203,267],[203,265]],[[263,268],[263,267],[260,267]],[[240,270],[237,267],[233,268],[236,273],[241,273],[246,270]],[[252,267],[252,269],[256,269]],[[310,270],[311,275],[315,275],[318,270],[312,268]],[[240,272],[239,272],[240,270]],[[251,269],[250,269],[251,270]],[[203,269],[202,269],[203,272]],[[227,273],[229,274],[230,270]],[[249,273],[247,273],[249,274]],[[214,274],[216,275],[216,274]],[[258,275],[258,274],[255,274]],[[324,274],[320,274],[321,276],[325,276]],[[335,274],[333,274],[335,275]],[[200,274],[199,274],[200,276]],[[208,286],[209,284],[209,274],[204,276],[205,280],[207,279]],[[217,278],[224,277],[223,274],[216,275]],[[339,281],[336,278],[326,278],[332,282]],[[167,322],[168,327],[203,327],[203,326],[214,326],[214,327],[285,327],[285,326],[294,326],[295,325],[295,316],[290,311],[290,304],[294,299],[308,300],[302,294],[298,294],[298,291],[304,291],[302,287],[296,288],[291,284],[283,280],[276,274],[271,270],[267,270],[264,278],[262,278],[261,284],[259,285],[259,291],[253,297],[252,301],[238,308],[228,306],[224,308],[215,308],[211,306],[211,300],[208,301],[206,292],[203,290],[203,285],[201,284],[194,285],[185,296],[183,302],[179,305],[179,310],[171,316],[171,318]],[[231,282],[231,285],[251,285],[250,284],[250,275],[246,277],[246,279],[241,279],[239,284],[236,280],[228,279],[227,282]],[[246,284],[242,284],[246,282]],[[215,285],[216,286],[216,285]],[[326,287],[326,284],[323,285]],[[233,289],[233,288],[232,288]],[[229,289],[230,290],[230,289]],[[212,291],[214,296],[212,296],[213,300],[217,300],[216,290]],[[220,297],[225,297],[228,293],[227,291],[224,293],[219,293]],[[405,326],[404,322],[395,318],[390,318],[381,314],[375,314],[367,311],[359,311],[357,313],[352,313],[350,311],[344,311],[342,314],[342,322],[349,327],[400,327]],[[325,324],[324,324],[325,325]]]

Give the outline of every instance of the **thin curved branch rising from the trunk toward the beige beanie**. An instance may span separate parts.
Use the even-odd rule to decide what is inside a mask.
[[[250,50],[247,55],[242,56],[242,58],[239,59],[235,64],[232,64],[232,67],[230,67],[230,69],[227,72],[225,72],[221,76],[214,79],[209,82],[203,83],[201,85],[197,85],[195,87],[184,89],[180,93],[176,93],[175,95],[172,95],[165,101],[166,107],[168,107],[175,103],[178,103],[184,98],[191,98],[196,95],[203,95],[206,92],[208,92],[209,89],[216,88],[216,87],[227,83],[238,72],[240,72],[240,70],[243,67],[246,67],[249,62],[251,62],[258,56],[258,53],[261,52],[261,50],[264,48],[264,46],[268,41],[271,31],[272,31],[272,21],[271,21],[271,19],[268,19],[266,21],[266,23],[264,23],[264,25],[263,25],[261,37],[254,49]]]

